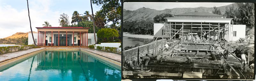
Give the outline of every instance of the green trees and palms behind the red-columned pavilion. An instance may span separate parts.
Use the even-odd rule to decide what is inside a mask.
[[[60,15],[59,23],[62,27],[89,27],[88,33],[97,33],[98,42],[111,42],[119,41],[121,36],[121,0],[91,0],[92,4],[101,6],[100,11],[97,11],[95,15],[90,14],[89,11],[85,11],[80,14],[78,11],[74,11],[72,14],[71,25],[69,24],[69,16],[65,13]],[[94,20],[94,21],[93,21]],[[112,22],[111,25],[106,25],[108,22]],[[95,25],[95,27],[94,27]],[[49,22],[44,22],[43,26],[51,26]],[[116,30],[116,32],[111,32]],[[95,30],[95,32],[94,32]],[[112,33],[110,36],[100,33]],[[112,40],[108,40],[112,38]],[[107,39],[107,40],[106,40]]]

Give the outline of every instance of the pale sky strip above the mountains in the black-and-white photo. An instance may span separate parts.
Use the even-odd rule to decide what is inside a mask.
[[[186,2],[124,2],[124,9],[137,10],[145,7],[156,10],[172,9],[172,8],[196,8],[196,7],[220,7],[233,3],[186,3]]]

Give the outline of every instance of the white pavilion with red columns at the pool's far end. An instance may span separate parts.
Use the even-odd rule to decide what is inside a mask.
[[[36,27],[33,33],[39,46],[89,46],[95,44],[93,33],[85,27]],[[95,33],[96,34],[96,33]],[[96,34],[97,41],[97,34]],[[28,33],[28,45],[33,44],[32,34]]]

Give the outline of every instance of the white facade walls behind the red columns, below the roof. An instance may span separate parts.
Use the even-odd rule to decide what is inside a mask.
[[[47,40],[47,43],[53,43],[54,44],[54,38],[52,38],[52,42],[50,41],[51,39],[51,37],[53,36],[54,37],[54,34],[56,35],[58,35],[59,33],[45,33],[45,40]],[[71,34],[71,39],[72,39],[72,42],[71,42],[71,45],[73,45],[73,33],[67,33],[68,35],[70,35]],[[86,42],[83,42],[83,40],[84,40],[84,38],[87,38],[87,37],[85,37],[85,35],[83,36],[82,35],[83,33],[81,33],[81,43],[88,43],[88,46],[89,45],[93,45],[93,44],[95,44],[95,41],[94,41],[94,35],[93,35],[93,33],[88,33],[88,42],[86,41]],[[38,34],[37,33],[33,33],[33,35],[34,35],[34,39],[35,39],[35,41],[36,41],[36,45],[37,45],[37,43],[38,43],[38,40],[40,39],[40,40],[42,40],[41,38],[38,38]],[[42,33],[40,34],[39,33],[39,37],[40,37],[40,35],[41,35],[41,37],[42,37]],[[97,33],[95,33],[95,35],[96,35],[96,41],[97,41]],[[60,37],[61,36],[66,36],[66,33],[60,33]],[[43,33],[43,43],[45,42],[44,41],[44,33]],[[76,38],[76,41],[74,41],[74,44],[75,45],[78,45],[78,40],[80,40],[80,33],[74,33],[74,38]],[[39,41],[40,41],[39,40]],[[56,39],[57,40],[57,39]],[[85,39],[86,40],[86,39]],[[32,34],[31,33],[28,33],[28,45],[32,45],[33,44],[33,39],[32,39]],[[82,46],[82,45],[81,45]]]

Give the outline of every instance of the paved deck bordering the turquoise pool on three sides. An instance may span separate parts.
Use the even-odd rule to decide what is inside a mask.
[[[58,48],[58,47],[48,47],[48,48]],[[26,54],[38,51],[38,50],[42,50],[42,49],[44,49],[44,48],[32,48],[32,49],[27,49],[27,50],[23,50],[23,51],[2,54],[2,55],[0,55],[0,63],[10,60],[10,59],[13,59],[13,58],[16,58],[16,57],[19,57],[19,56],[22,56],[22,55],[26,55]],[[79,48],[77,48],[77,49],[79,49]],[[94,53],[94,54],[97,54],[100,56],[107,57],[109,59],[112,59],[112,60],[115,60],[115,61],[121,63],[121,55],[120,54],[114,54],[114,53],[99,51],[99,50],[90,49],[90,48],[80,48],[80,49],[86,50],[88,52],[91,52],[91,53]]]

